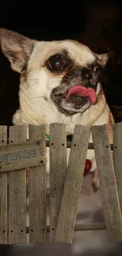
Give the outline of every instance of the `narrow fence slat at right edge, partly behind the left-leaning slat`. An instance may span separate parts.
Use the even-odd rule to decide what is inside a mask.
[[[113,163],[122,213],[122,122],[113,125]]]

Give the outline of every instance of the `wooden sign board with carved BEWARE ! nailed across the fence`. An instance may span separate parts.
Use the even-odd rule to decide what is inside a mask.
[[[41,143],[38,140],[31,143],[2,146],[0,148],[0,173],[46,163],[46,155],[41,155],[43,153]]]

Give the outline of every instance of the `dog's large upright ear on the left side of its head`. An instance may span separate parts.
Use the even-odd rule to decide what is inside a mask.
[[[2,53],[9,59],[11,68],[23,72],[28,64],[35,41],[24,35],[0,28],[0,46]]]

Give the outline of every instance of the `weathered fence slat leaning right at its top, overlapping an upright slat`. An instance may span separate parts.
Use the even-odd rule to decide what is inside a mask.
[[[57,221],[55,242],[72,243],[89,138],[90,128],[76,125],[65,177],[61,209]]]

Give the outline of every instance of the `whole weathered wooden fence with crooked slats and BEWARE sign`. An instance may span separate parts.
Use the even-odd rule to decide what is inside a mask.
[[[29,243],[46,243],[47,232],[50,242],[72,243],[74,230],[95,229],[106,229],[109,242],[122,241],[122,123],[114,124],[113,131],[109,145],[106,125],[76,125],[72,142],[67,142],[65,124],[50,124],[50,141],[46,141],[44,125],[20,125],[9,127],[8,141],[6,126],[0,126],[0,244],[26,243],[27,233]],[[50,147],[50,227],[46,225],[46,147]],[[68,166],[67,147],[71,147]],[[105,223],[76,225],[87,148],[95,152]]]

